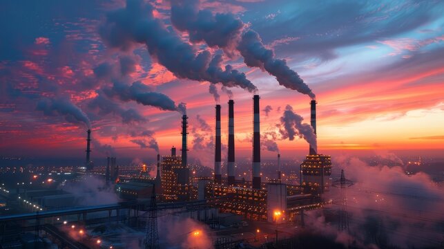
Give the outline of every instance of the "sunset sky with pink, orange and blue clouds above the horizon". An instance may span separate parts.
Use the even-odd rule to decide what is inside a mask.
[[[162,93],[175,106],[186,103],[191,156],[211,158],[216,103],[209,93],[211,83],[186,79],[177,73],[180,66],[176,72],[166,69],[163,55],[153,53],[162,53],[163,42],[171,39],[157,37],[161,52],[148,53],[144,42],[128,42],[124,37],[153,39],[153,34],[162,32],[179,37],[196,55],[202,51],[222,55],[222,68],[231,65],[257,87],[261,110],[271,107],[268,113],[261,111],[262,133],[278,134],[276,143],[284,156],[308,151],[304,139],[284,139],[282,126],[276,125],[287,105],[309,123],[309,95],[281,86],[261,68],[247,66],[230,45],[220,48],[191,39],[172,21],[171,5],[177,3],[146,1],[137,3],[144,8],[135,11],[126,8],[123,0],[28,2],[0,3],[0,156],[83,157],[86,121],[70,111],[90,120],[96,141],[93,157],[154,156],[155,149],[139,146],[154,140],[161,154],[173,145],[180,148],[180,112],[139,104],[119,97],[119,91],[109,93],[115,82],[126,87],[139,82],[144,91]],[[237,20],[241,33],[254,30],[262,44],[277,59],[285,59],[316,94],[319,153],[433,149],[438,154],[444,150],[443,1],[204,0],[194,4],[196,13],[204,10],[218,20]],[[131,11],[142,15],[134,19],[153,19],[162,30],[140,38],[133,33],[144,30],[119,30],[122,36],[108,32],[115,31],[115,20],[133,25],[131,15],[124,15]],[[177,19],[192,16],[176,14]],[[170,53],[174,57],[176,51]],[[216,84],[226,145],[229,97],[221,86]],[[240,87],[228,89],[235,102],[236,156],[249,158],[253,93]],[[59,105],[63,107],[57,109]],[[264,156],[274,154],[264,149]]]

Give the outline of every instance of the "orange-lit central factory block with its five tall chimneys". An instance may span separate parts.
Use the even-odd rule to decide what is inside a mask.
[[[321,208],[326,203],[322,194],[329,190],[331,175],[331,158],[317,153],[317,148],[310,145],[309,154],[300,165],[295,165],[300,171],[300,185],[282,183],[280,173],[280,154],[278,154],[278,175],[264,182],[261,179],[260,158],[260,97],[253,96],[253,158],[251,181],[236,179],[235,172],[235,119],[234,101],[229,100],[228,125],[228,162],[226,163],[226,178],[222,177],[221,150],[221,105],[215,106],[215,156],[213,178],[193,178],[187,163],[187,116],[182,116],[182,149],[177,156],[176,148],[171,148],[171,154],[157,155],[157,174],[150,180],[155,185],[158,201],[192,201],[195,199],[211,200],[227,197],[214,208],[220,212],[243,216],[254,221],[291,222],[298,219],[303,210]],[[311,101],[311,126],[316,133],[316,101]],[[162,160],[161,160],[162,159]],[[111,160],[113,162],[113,160]],[[114,161],[115,162],[115,161]],[[113,165],[113,163],[111,163]],[[112,167],[113,168],[113,167]],[[109,170],[107,169],[106,172]],[[111,174],[113,175],[113,174]],[[108,177],[108,173],[106,173]],[[113,178],[115,181],[115,178]],[[135,181],[132,179],[130,181]],[[117,191],[123,191],[119,183]],[[140,188],[133,186],[134,193]],[[146,187],[150,187],[146,185]],[[128,191],[128,190],[126,190]]]

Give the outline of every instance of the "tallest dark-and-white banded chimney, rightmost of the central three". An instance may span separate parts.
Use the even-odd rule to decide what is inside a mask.
[[[253,97],[253,188],[260,190],[259,95]]]

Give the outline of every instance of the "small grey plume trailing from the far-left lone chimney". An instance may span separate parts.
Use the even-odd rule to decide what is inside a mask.
[[[70,100],[44,98],[37,102],[37,110],[43,111],[45,116],[63,116],[70,123],[83,123],[88,129],[91,128],[90,120],[86,113],[81,111],[79,107],[76,107]]]

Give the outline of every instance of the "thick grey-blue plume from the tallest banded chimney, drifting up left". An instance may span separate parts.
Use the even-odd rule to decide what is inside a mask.
[[[128,0],[126,8],[108,13],[99,33],[108,46],[121,50],[146,44],[148,53],[178,78],[220,82],[249,92],[257,90],[244,73],[230,65],[222,69],[222,55],[211,57],[209,50],[197,53],[193,46],[182,42],[173,30],[153,17],[153,7],[144,1]]]

